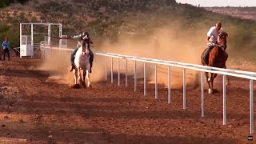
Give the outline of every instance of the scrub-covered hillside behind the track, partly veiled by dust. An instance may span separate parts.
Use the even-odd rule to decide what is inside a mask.
[[[204,8],[178,4],[174,0],[30,0],[25,6],[14,4],[0,9],[0,12],[0,22],[9,25],[10,30],[16,29],[12,31],[17,31],[17,34],[20,22],[59,22],[62,23],[63,34],[89,30],[98,48],[102,44],[111,44],[111,50],[122,51],[120,47],[130,43],[135,50],[129,51],[148,50],[152,39],[157,36],[162,43],[158,52],[169,54],[158,58],[170,60],[176,60],[170,54],[177,51],[176,47],[182,48],[178,49],[182,52],[176,56],[186,55],[186,50],[193,51],[189,54],[191,57],[200,55],[206,47],[207,30],[220,20],[230,35],[228,52],[232,56],[229,62],[255,62],[251,51],[256,47],[256,31],[244,29],[254,27],[255,21],[216,14]],[[122,43],[122,46],[117,43]],[[183,59],[190,59],[185,57]]]

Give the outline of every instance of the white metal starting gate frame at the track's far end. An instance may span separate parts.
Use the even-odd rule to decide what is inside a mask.
[[[45,46],[50,46],[50,38],[51,38],[50,27],[51,26],[54,26],[54,25],[58,26],[58,29],[59,29],[58,37],[62,37],[62,24],[61,23],[20,23],[20,58],[22,58],[24,56],[25,57],[29,56],[29,57],[33,58],[34,52],[39,49],[39,47],[38,47],[39,44],[34,43],[34,34],[39,34],[39,33],[34,32],[34,26],[36,26],[36,25],[42,25],[42,26],[48,27],[48,32],[44,34],[46,36],[45,42],[44,42]],[[23,26],[30,26],[30,30],[31,30],[30,35],[22,34]],[[66,48],[67,41],[60,39],[59,46]]]

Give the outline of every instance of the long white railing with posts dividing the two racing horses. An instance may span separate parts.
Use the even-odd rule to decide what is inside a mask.
[[[46,50],[68,50],[72,51],[73,49],[60,49],[60,48],[52,48],[49,46],[41,46],[42,51]],[[47,53],[42,53],[47,54]],[[146,95],[146,63],[153,63],[155,69],[155,98],[158,98],[158,65],[168,66],[168,103],[170,103],[170,67],[179,67],[183,68],[183,109],[186,109],[186,69],[189,70],[197,70],[201,72],[201,109],[202,109],[202,117],[204,117],[204,91],[203,91],[203,72],[209,72],[214,74],[222,74],[223,75],[223,125],[226,125],[226,76],[234,76],[238,78],[246,78],[250,79],[250,134],[254,133],[254,86],[253,80],[256,80],[256,73],[250,71],[243,70],[231,70],[231,69],[221,69],[210,66],[200,66],[190,63],[184,62],[173,62],[173,61],[165,61],[153,58],[138,58],[134,56],[122,55],[122,54],[113,54],[113,53],[103,53],[103,52],[94,52],[94,54],[105,56],[105,79],[107,80],[107,68],[106,68],[106,57],[111,58],[111,83],[113,83],[113,58],[118,58],[118,86],[120,86],[120,59],[126,60],[126,86],[128,86],[128,77],[127,77],[127,60],[134,61],[134,92],[137,91],[137,75],[136,75],[136,62],[144,62],[144,95]],[[45,58],[45,55],[42,55],[42,58]]]

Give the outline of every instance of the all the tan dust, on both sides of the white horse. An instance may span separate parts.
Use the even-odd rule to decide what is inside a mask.
[[[188,62],[201,64],[200,55],[206,48],[205,35],[208,28],[201,27],[194,31],[183,30],[182,22],[172,22],[161,28],[154,28],[154,33],[142,38],[130,37],[120,34],[118,41],[110,42],[107,39],[101,40],[101,44],[95,44],[91,48],[95,51],[110,52],[115,54],[125,54],[143,58],[156,58],[176,62]],[[201,31],[200,31],[201,30]],[[157,43],[157,44],[156,44]],[[74,75],[69,72],[70,52],[62,51],[45,59],[38,69],[49,70],[50,79],[55,82],[65,84],[74,83]],[[94,54],[93,73],[90,74],[90,81],[102,81],[105,78],[105,58]],[[110,59],[106,58],[107,70],[110,72]],[[114,58],[114,73],[118,71],[118,59]],[[120,60],[120,71],[126,72],[126,61]],[[154,82],[154,64],[146,64],[146,74],[149,82]],[[134,62],[128,60],[128,75],[134,75]],[[137,62],[138,78],[143,78],[143,63]],[[114,77],[117,78],[117,77]],[[131,77],[133,78],[133,77]],[[196,86],[197,72],[186,70],[186,84]],[[158,83],[166,85],[167,66],[158,65]],[[93,83],[92,83],[93,84]],[[182,68],[171,66],[171,86],[172,88],[182,87]]]

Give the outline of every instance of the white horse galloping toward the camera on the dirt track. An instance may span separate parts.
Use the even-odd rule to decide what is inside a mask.
[[[80,84],[84,85],[87,79],[87,86],[90,87],[90,51],[86,46],[80,46],[74,58],[74,84],[78,85],[77,79],[79,78]],[[83,78],[81,76],[83,71]]]

